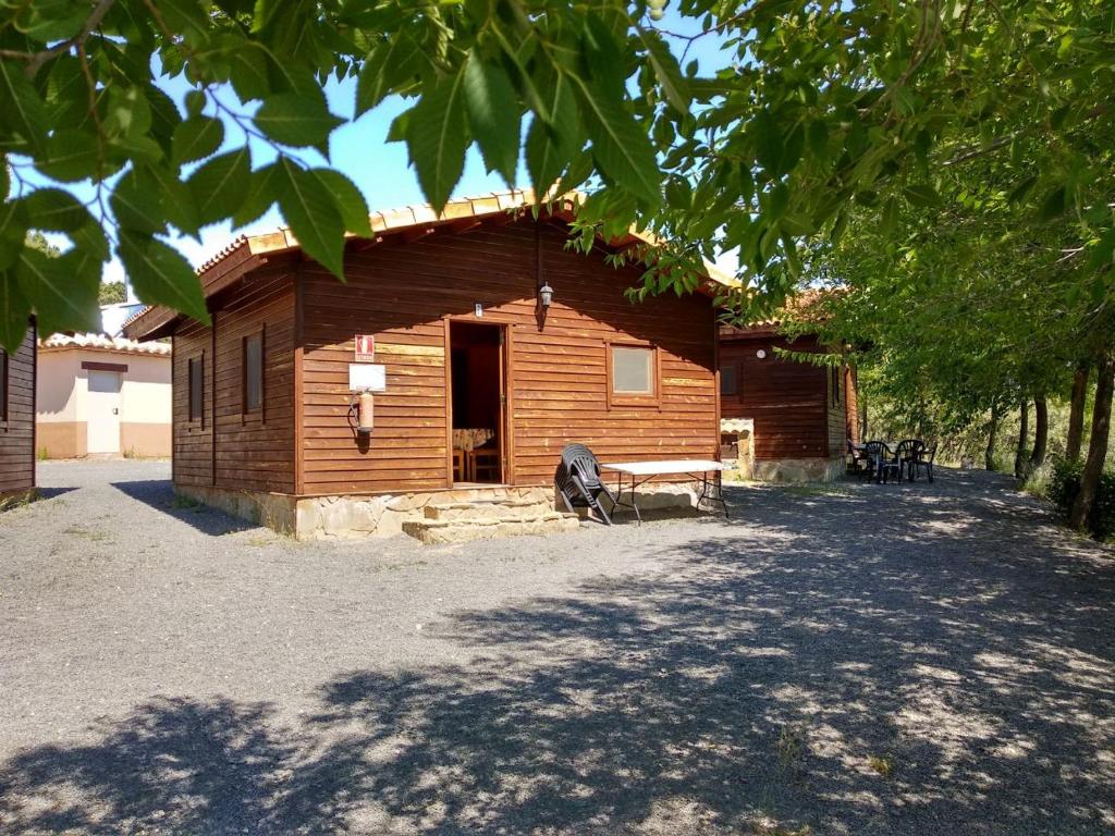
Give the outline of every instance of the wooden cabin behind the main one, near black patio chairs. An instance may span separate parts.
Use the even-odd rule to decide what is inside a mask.
[[[860,440],[855,370],[779,358],[776,348],[823,350],[815,336],[787,339],[776,322],[721,327],[721,418],[754,422],[755,478],[835,478],[844,473],[847,439]]]

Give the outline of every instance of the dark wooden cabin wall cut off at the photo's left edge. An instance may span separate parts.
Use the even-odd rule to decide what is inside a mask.
[[[35,324],[12,353],[0,348],[0,508],[35,493]]]

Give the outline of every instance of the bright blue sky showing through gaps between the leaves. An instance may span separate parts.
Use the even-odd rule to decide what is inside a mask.
[[[667,10],[666,18],[660,22],[663,30],[681,33],[696,33],[699,31],[699,21],[681,19],[671,10]],[[681,56],[686,47],[686,41],[679,39],[668,39],[675,55]],[[718,49],[719,38],[709,36],[692,43],[686,56],[686,60],[697,59],[701,72],[710,72],[726,62],[726,54]],[[185,93],[190,89],[181,79],[164,79],[159,86],[171,95],[171,97],[182,105]],[[219,90],[217,95],[222,101],[237,113],[250,113],[240,106],[235,95],[231,89]],[[330,110],[338,116],[350,118],[355,107],[356,81],[347,79],[342,82],[330,82],[327,86],[326,95],[329,99]],[[405,101],[397,96],[392,96],[382,101],[378,107],[361,116],[356,121],[349,121],[333,132],[330,139],[330,157],[326,159],[318,152],[298,149],[295,153],[302,159],[313,165],[329,165],[347,174],[363,193],[368,207],[371,211],[406,206],[410,204],[425,203],[421,189],[418,186],[414,169],[409,166],[406,146],[401,143],[388,143],[387,130],[391,120],[411,103]],[[209,111],[209,110],[207,110]],[[244,142],[243,134],[235,125],[225,119],[225,148],[239,147]],[[250,139],[252,150],[252,165],[259,167],[274,158],[274,150],[258,140]],[[525,168],[520,163],[518,182],[515,186],[530,185]],[[485,172],[483,161],[475,147],[469,148],[465,162],[465,171],[454,189],[454,197],[472,196],[493,191],[506,189],[507,184],[497,174]],[[78,192],[86,189],[78,188]],[[91,192],[89,192],[91,194]],[[80,195],[86,196],[86,195]],[[176,236],[171,239],[171,243],[182,252],[186,259],[195,266],[212,256],[215,252],[224,247],[235,237],[242,234],[253,234],[268,232],[281,226],[282,215],[278,207],[272,207],[270,212],[258,221],[236,230],[230,223],[207,226],[201,232],[201,241],[192,237]],[[65,241],[59,242],[67,245]],[[115,281],[123,279],[123,269],[114,260],[107,265],[104,279]]]

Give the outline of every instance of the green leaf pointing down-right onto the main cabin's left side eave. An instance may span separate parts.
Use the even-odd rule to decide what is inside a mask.
[[[116,254],[144,302],[165,304],[203,324],[210,323],[201,281],[177,250],[157,239],[123,232]]]

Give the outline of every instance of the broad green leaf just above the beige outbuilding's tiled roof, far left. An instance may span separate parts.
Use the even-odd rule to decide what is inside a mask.
[[[78,269],[80,256],[55,257],[26,246],[16,279],[35,309],[43,333],[96,331],[100,327],[97,291],[100,270]]]

